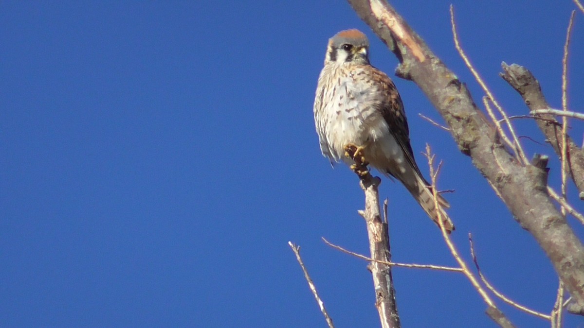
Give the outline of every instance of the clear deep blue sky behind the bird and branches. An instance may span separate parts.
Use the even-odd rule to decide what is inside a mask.
[[[512,115],[519,95],[500,62],[529,68],[561,106],[571,1],[394,1],[468,86],[449,4],[472,62]],[[338,327],[376,327],[357,179],[331,169],[312,102],[329,37],[358,28],[371,61],[397,65],[342,1],[3,1],[0,4],[0,322],[22,326],[318,327],[324,320],[288,240]],[[584,19],[576,14],[569,104],[583,111]],[[472,232],[484,273],[517,302],[549,312],[557,278],[412,83],[395,78],[412,146],[444,160],[439,186],[465,259]],[[529,155],[552,154],[517,120]],[[572,121],[577,142],[584,129]],[[559,165],[550,182],[558,186]],[[575,207],[584,210],[576,201]],[[399,184],[390,199],[395,261],[454,266],[436,226]],[[576,233],[584,229],[570,219]],[[404,327],[493,327],[462,275],[394,269]],[[541,319],[499,302],[519,326]],[[566,326],[584,324],[567,316]]]

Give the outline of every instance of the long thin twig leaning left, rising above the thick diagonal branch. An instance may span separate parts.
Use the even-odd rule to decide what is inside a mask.
[[[524,164],[529,163],[529,159],[527,158],[527,156],[523,152],[523,148],[522,148],[521,144],[519,143],[519,138],[517,138],[517,135],[515,134],[515,129],[513,128],[513,125],[511,124],[509,117],[507,117],[507,113],[505,113],[505,110],[503,110],[503,107],[501,107],[500,104],[497,102],[497,100],[495,99],[495,97],[491,93],[491,90],[489,90],[489,88],[486,86],[486,83],[484,81],[482,81],[481,76],[478,74],[477,70],[472,66],[470,60],[468,60],[467,55],[464,53],[463,48],[460,46],[460,41],[458,41],[458,33],[456,31],[456,23],[454,23],[454,6],[453,5],[450,5],[450,25],[452,26],[452,33],[454,36],[454,46],[456,47],[458,54],[460,54],[460,57],[463,58],[464,64],[467,65],[467,68],[471,71],[472,75],[474,75],[475,79],[477,80],[477,82],[481,86],[482,90],[486,93],[486,96],[489,97],[489,100],[491,100],[491,102],[495,105],[496,109],[499,110],[499,114],[501,114],[501,116],[505,120],[505,123],[507,124],[507,128],[509,129],[509,132],[511,133],[511,135],[513,137],[513,141],[515,142],[515,144],[512,148],[515,150],[516,155],[519,156],[519,158],[522,160],[522,162]],[[494,119],[493,121],[496,122],[497,120]],[[502,136],[504,135],[504,132],[502,130],[500,130],[499,133]]]

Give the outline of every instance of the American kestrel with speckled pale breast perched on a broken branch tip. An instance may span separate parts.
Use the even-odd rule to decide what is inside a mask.
[[[329,39],[325,66],[318,77],[314,123],[322,155],[347,165],[345,146],[359,146],[371,166],[404,184],[434,222],[438,214],[432,187],[424,179],[409,143],[404,104],[389,76],[369,63],[369,40],[359,30]],[[439,202],[449,207],[439,196]],[[454,225],[442,211],[444,228]]]

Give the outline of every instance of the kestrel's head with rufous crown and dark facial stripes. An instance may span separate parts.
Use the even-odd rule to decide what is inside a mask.
[[[369,40],[360,30],[345,30],[329,39],[325,63],[369,64]]]

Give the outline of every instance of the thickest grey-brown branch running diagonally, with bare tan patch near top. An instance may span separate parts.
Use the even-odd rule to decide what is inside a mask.
[[[387,2],[348,0],[401,62],[397,75],[415,82],[449,124],[465,155],[500,195],[519,224],[544,249],[584,315],[584,247],[547,193],[547,172],[523,165],[500,141],[470,92]]]

